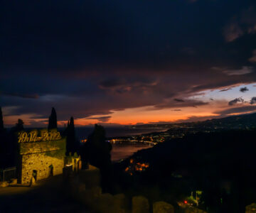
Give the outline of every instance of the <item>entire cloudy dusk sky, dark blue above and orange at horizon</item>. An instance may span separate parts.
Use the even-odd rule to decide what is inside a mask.
[[[6,127],[256,112],[255,0],[4,0],[0,31]]]

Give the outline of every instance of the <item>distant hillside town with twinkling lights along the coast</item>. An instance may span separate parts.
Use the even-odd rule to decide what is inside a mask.
[[[134,125],[130,128],[140,129],[169,129],[154,133],[139,134],[136,136],[111,137],[107,140],[112,144],[146,144],[154,146],[157,143],[163,143],[174,138],[183,138],[188,134],[198,132],[210,133],[216,131],[235,130],[235,129],[255,129],[256,114],[243,114],[239,116],[229,116],[223,119],[211,119],[207,121],[197,121],[176,124],[144,124]],[[86,139],[81,141],[86,142]]]

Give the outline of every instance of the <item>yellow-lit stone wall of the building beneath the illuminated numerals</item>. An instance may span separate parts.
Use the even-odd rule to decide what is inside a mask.
[[[18,182],[30,182],[33,171],[36,172],[36,180],[63,173],[65,143],[65,138],[19,143]]]

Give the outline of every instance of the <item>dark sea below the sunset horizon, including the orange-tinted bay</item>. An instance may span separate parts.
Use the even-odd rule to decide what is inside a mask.
[[[167,129],[149,129],[149,128],[129,128],[129,127],[105,127],[106,137],[120,137],[120,136],[135,136],[144,133],[166,131]],[[75,128],[76,136],[79,140],[87,138],[92,133],[93,127],[77,127]],[[133,153],[144,148],[149,148],[148,145],[112,145],[111,159],[112,162],[117,162],[124,158],[128,158]]]

